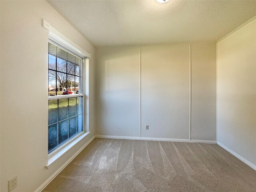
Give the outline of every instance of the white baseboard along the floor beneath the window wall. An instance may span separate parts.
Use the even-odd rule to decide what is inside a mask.
[[[93,136],[86,144],[84,144],[72,157],[70,157],[52,176],[50,176],[40,187],[38,187],[34,192],[41,192],[92,140],[94,140],[95,136]]]

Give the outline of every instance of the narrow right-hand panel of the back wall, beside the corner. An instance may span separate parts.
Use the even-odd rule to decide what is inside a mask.
[[[216,140],[216,44],[191,45],[191,139]]]

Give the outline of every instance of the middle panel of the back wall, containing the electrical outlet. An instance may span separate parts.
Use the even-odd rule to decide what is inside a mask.
[[[189,44],[142,46],[142,137],[189,138],[189,52]]]

